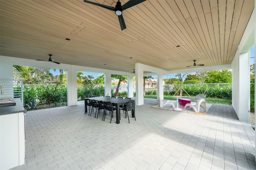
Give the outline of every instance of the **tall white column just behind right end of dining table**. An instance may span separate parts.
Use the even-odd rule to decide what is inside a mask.
[[[143,94],[143,69],[139,67],[139,63],[135,64],[136,73],[136,105],[144,104],[144,94]]]

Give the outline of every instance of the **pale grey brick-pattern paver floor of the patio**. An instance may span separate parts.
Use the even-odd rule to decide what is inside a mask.
[[[205,116],[136,106],[136,121],[110,124],[77,106],[27,112],[26,159],[18,169],[256,169],[254,130],[229,105]]]

